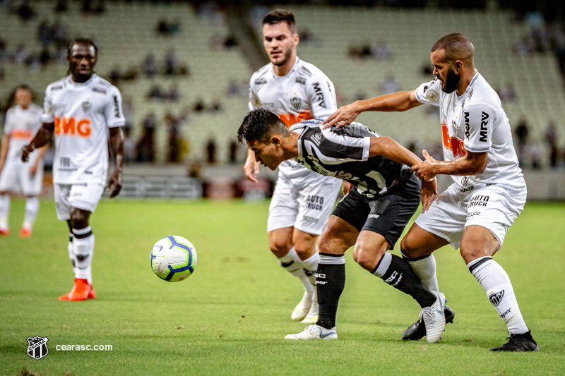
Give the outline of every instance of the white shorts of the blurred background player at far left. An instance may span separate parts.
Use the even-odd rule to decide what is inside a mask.
[[[30,174],[31,163],[20,160],[6,161],[0,174],[0,191],[37,196],[43,186],[43,161],[37,166],[35,175]]]

